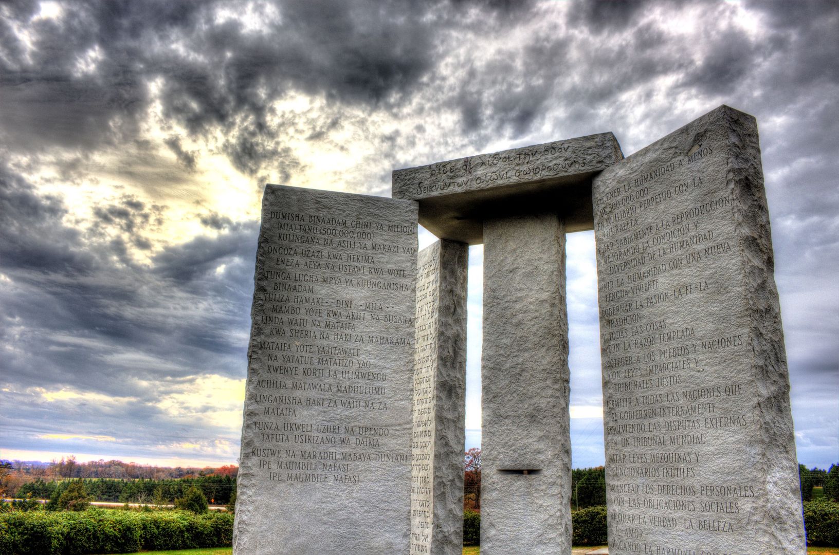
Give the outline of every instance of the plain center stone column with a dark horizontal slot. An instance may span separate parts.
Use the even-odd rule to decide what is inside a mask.
[[[565,225],[483,224],[482,555],[571,553]]]

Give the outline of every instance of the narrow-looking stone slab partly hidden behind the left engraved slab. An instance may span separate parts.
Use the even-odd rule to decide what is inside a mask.
[[[414,358],[410,555],[460,555],[468,246],[420,251]]]

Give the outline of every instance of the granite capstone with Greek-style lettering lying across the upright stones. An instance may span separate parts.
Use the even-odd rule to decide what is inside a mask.
[[[435,236],[483,242],[483,220],[551,210],[566,231],[593,229],[591,178],[623,159],[612,133],[478,154],[393,171],[394,199],[420,202],[420,224]]]

